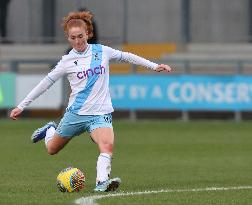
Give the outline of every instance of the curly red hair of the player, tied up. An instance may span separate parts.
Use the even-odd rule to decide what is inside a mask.
[[[88,39],[93,37],[93,15],[89,11],[70,12],[63,18],[62,27],[68,36],[68,31],[72,27],[84,27],[88,32]]]

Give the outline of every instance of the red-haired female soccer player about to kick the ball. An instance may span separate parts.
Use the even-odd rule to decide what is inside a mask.
[[[11,111],[16,120],[33,100],[49,89],[55,81],[67,75],[71,86],[68,107],[58,126],[49,122],[32,134],[36,143],[45,139],[50,155],[59,152],[74,136],[87,131],[98,145],[95,191],[114,191],[120,178],[110,179],[114,132],[111,113],[114,111],[109,94],[109,61],[111,59],[145,66],[157,72],[170,72],[168,65],[158,65],[132,53],[122,52],[100,44],[88,44],[92,37],[92,15],[89,12],[72,12],[62,26],[73,48],[64,55],[55,68]]]

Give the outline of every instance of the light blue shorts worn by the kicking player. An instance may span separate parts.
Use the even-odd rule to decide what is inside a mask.
[[[61,119],[56,133],[61,137],[71,138],[84,132],[91,133],[100,127],[112,128],[112,115],[77,115],[66,112]]]

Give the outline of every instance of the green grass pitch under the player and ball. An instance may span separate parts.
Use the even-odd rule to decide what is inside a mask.
[[[98,150],[87,134],[49,156],[30,135],[45,120],[1,120],[0,204],[74,204],[93,193]],[[251,122],[116,121],[112,176],[120,192],[252,185]],[[68,166],[86,175],[86,188],[61,193],[57,174]],[[252,189],[156,193],[97,200],[99,205],[251,204]]]

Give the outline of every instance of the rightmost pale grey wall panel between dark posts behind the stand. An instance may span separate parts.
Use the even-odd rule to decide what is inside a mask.
[[[246,42],[248,0],[191,0],[193,42]]]

